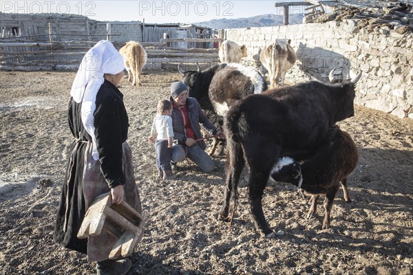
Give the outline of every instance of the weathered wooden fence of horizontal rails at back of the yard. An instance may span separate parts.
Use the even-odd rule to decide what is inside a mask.
[[[35,43],[0,40],[0,70],[17,71],[67,71],[76,70],[81,59],[97,41],[53,41]],[[20,40],[22,40],[20,38]],[[189,67],[198,62],[202,67],[218,63],[218,49],[169,47],[171,43],[213,43],[222,39],[161,39],[159,42],[142,43],[148,61],[144,69],[176,69],[178,63]],[[125,43],[116,43],[117,49]]]

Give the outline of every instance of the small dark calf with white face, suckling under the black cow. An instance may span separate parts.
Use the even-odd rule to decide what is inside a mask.
[[[347,177],[357,166],[359,154],[357,146],[350,135],[332,126],[326,140],[317,148],[315,155],[298,162],[297,159],[283,157],[271,171],[275,181],[288,182],[302,188],[304,194],[311,195],[308,217],[313,217],[317,208],[317,197],[324,199],[323,229],[330,228],[330,211],[332,201],[340,186],[343,188],[344,200],[351,202],[347,190]]]

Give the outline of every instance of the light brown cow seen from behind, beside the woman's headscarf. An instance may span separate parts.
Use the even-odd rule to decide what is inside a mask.
[[[127,70],[127,80],[131,81],[133,77],[132,86],[142,86],[140,75],[142,74],[142,67],[147,62],[147,53],[136,41],[129,41],[125,46],[119,50],[120,55],[125,61],[125,68]]]

